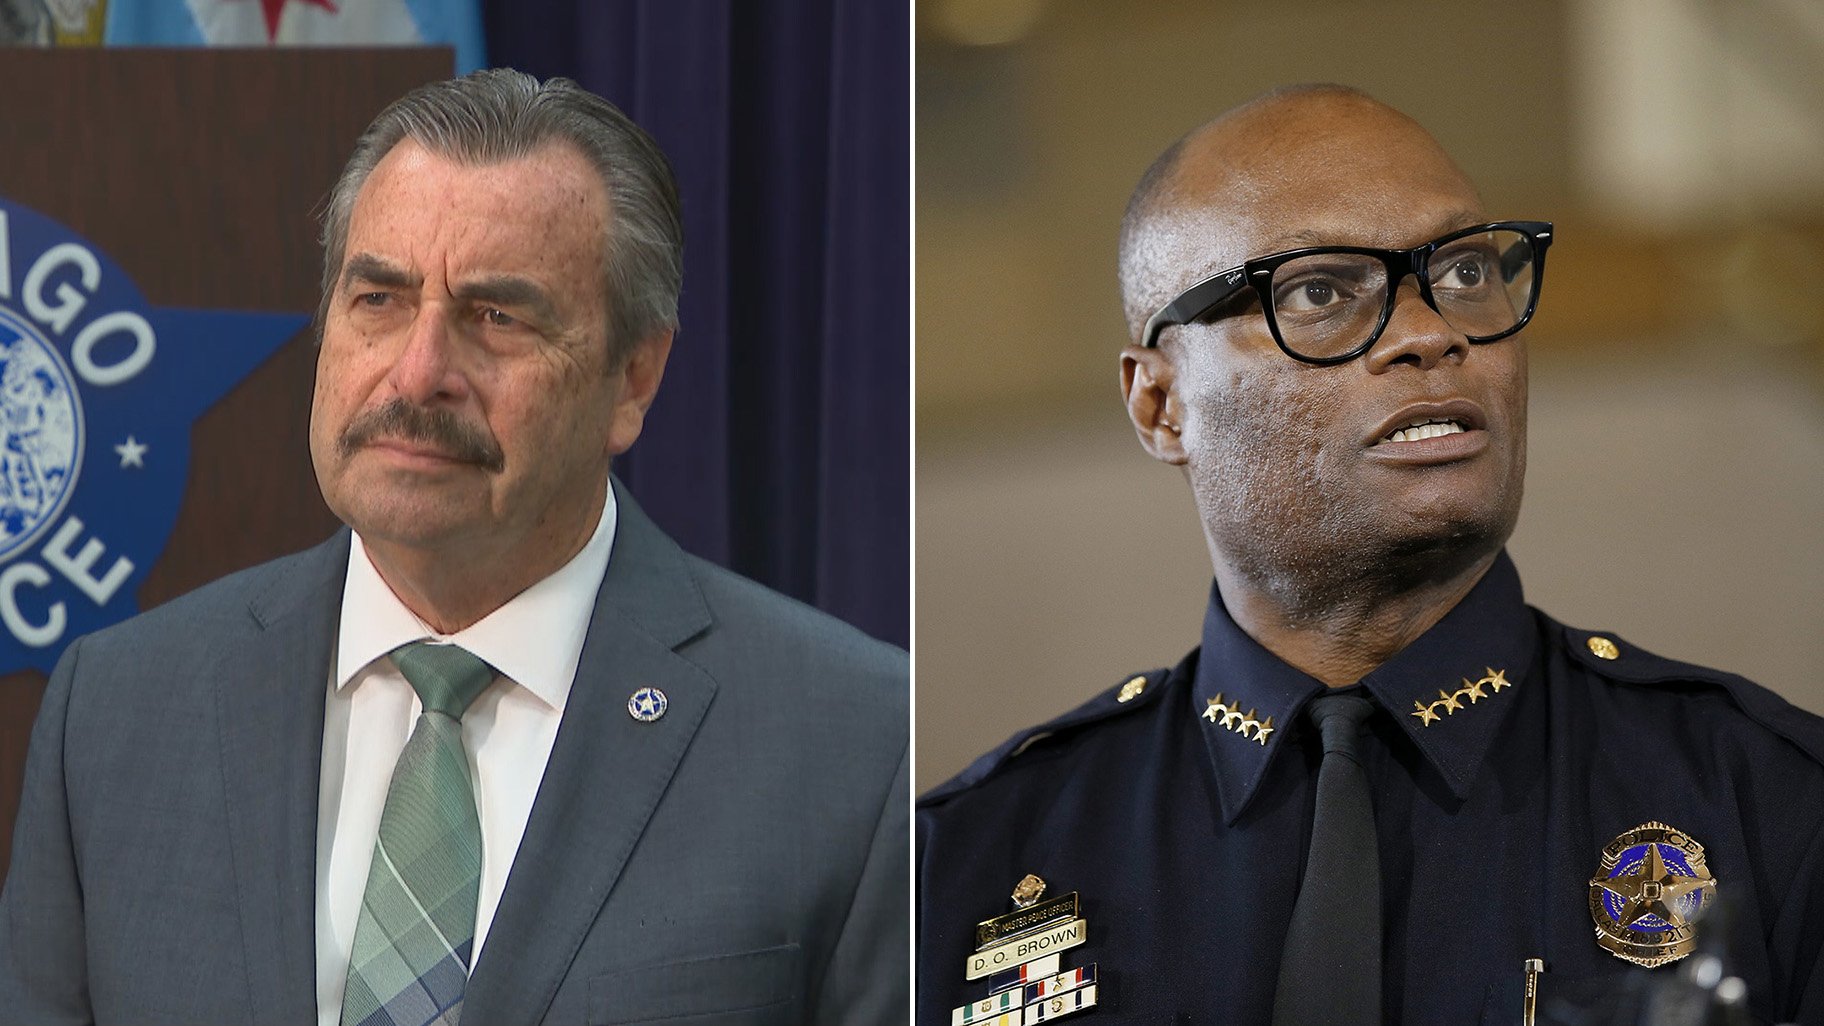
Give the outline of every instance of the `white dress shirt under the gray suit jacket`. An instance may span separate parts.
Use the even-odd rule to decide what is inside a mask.
[[[461,719],[469,776],[482,820],[482,891],[474,949],[507,885],[525,836],[538,781],[564,717],[595,595],[615,544],[615,491],[595,533],[556,573],[520,592],[480,623],[440,635],[392,593],[367,557],[361,535],[348,546],[341,626],[330,661],[323,717],[323,780],[317,790],[317,1022],[341,1021],[367,869],[379,838],[392,767],[423,705],[389,659],[394,648],[434,637],[461,644],[500,675]]]

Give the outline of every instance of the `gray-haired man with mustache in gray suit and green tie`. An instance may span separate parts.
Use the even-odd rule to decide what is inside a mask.
[[[323,245],[348,529],[69,646],[0,1021],[903,1021],[905,654],[609,475],[677,329],[657,144],[562,79],[427,86]]]

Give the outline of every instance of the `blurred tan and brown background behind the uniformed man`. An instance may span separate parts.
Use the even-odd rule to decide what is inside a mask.
[[[1556,221],[1532,604],[1824,712],[1824,5],[917,0],[917,787],[1197,644],[1209,557],[1135,444],[1114,232],[1262,89],[1361,86]]]

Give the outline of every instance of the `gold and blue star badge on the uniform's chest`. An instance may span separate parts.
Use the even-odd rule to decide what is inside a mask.
[[[1696,918],[1715,896],[1704,845],[1665,823],[1642,823],[1601,849],[1591,880],[1596,944],[1649,969],[1676,962],[1696,949]]]

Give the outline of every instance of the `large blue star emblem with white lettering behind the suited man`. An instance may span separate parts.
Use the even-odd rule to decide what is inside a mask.
[[[139,612],[192,425],[308,321],[155,307],[98,245],[0,195],[0,675],[49,674]]]

